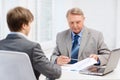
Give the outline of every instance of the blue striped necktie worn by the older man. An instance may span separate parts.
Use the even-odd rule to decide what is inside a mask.
[[[72,50],[71,50],[71,59],[76,59],[76,60],[71,60],[70,64],[76,63],[78,59],[78,52],[79,52],[78,38],[79,35],[74,36],[74,42],[72,44]]]

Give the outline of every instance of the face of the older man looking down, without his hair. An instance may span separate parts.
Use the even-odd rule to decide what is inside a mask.
[[[83,25],[84,25],[84,16],[82,15],[74,15],[74,14],[69,14],[67,17],[69,27],[70,29],[75,33],[78,34]]]

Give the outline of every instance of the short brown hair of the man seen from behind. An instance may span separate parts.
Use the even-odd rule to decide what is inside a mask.
[[[32,22],[34,16],[29,9],[23,7],[15,7],[7,13],[7,24],[10,31],[20,31],[23,24]]]

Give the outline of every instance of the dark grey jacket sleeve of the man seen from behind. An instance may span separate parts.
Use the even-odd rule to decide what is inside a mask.
[[[33,67],[49,78],[57,79],[61,76],[61,67],[46,58],[39,44],[33,48]]]

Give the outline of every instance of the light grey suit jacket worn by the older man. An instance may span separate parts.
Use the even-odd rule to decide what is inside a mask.
[[[65,30],[57,34],[56,47],[51,56],[51,61],[55,62],[59,55],[71,56],[72,38],[71,30]],[[83,27],[83,33],[79,48],[78,60],[85,59],[90,54],[97,54],[99,56],[101,65],[106,64],[110,53],[108,47],[104,42],[101,32],[98,32],[87,27]]]

